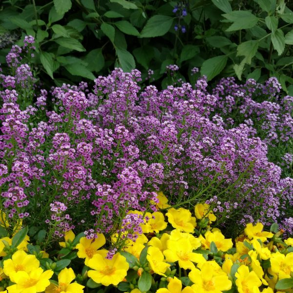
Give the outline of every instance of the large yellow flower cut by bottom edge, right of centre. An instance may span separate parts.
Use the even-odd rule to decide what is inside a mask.
[[[194,283],[192,289],[198,293],[221,293],[230,290],[232,282],[228,275],[223,272],[215,272],[213,265],[208,261],[204,263],[201,270],[192,269],[188,274],[189,279]]]

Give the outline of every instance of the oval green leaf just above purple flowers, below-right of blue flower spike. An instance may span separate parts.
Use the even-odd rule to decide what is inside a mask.
[[[203,63],[200,72],[202,75],[206,75],[208,81],[210,81],[225,68],[226,64],[226,55],[213,57]]]

